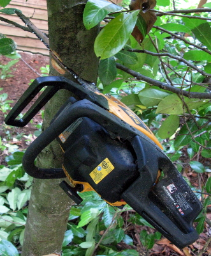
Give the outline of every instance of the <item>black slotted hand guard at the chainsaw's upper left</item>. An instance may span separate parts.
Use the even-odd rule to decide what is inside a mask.
[[[47,86],[45,91],[40,97],[34,102],[33,106],[25,113],[21,119],[17,119],[17,116],[25,109],[25,107],[34,99],[36,95],[41,91],[42,88]],[[108,102],[102,95],[96,94],[80,84],[77,84],[65,77],[61,76],[48,76],[38,77],[33,83],[27,88],[22,97],[15,104],[10,113],[6,116],[4,122],[8,125],[17,127],[24,127],[29,121],[40,111],[43,106],[50,100],[56,92],[61,89],[68,90],[74,93],[79,99],[88,99],[91,102],[101,106],[101,108],[109,109]]]

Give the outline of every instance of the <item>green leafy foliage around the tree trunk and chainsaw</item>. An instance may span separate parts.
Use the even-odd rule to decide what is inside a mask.
[[[1,0],[0,5],[4,7],[8,2]],[[133,109],[162,141],[164,151],[203,203],[203,211],[196,220],[200,234],[205,224],[210,225],[207,207],[211,204],[211,106],[210,97],[205,96],[210,93],[211,77],[211,28],[206,19],[210,15],[189,12],[179,17],[159,13],[173,9],[170,1],[160,0],[156,23],[147,33],[140,10],[129,10],[125,3],[127,12],[122,6],[103,0],[89,0],[85,6],[85,28],[91,29],[101,22],[101,32],[94,44],[101,59],[98,88]],[[131,36],[135,27],[143,35],[142,42]],[[15,43],[6,39],[0,37],[2,54],[15,50]],[[4,145],[0,144],[1,147]],[[14,152],[6,159],[8,167],[0,166],[0,251],[8,247],[5,239],[17,246],[22,244],[31,178],[22,170],[21,158],[22,152]],[[193,186],[196,177],[198,181]],[[129,233],[128,227],[132,225],[141,227],[139,238],[145,250],[150,250],[161,238],[130,207],[115,209],[94,192],[80,196],[84,201],[73,206],[69,215],[63,256],[138,255],[136,250],[117,250],[120,242],[136,245]],[[125,222],[130,223],[128,227]],[[146,225],[150,232],[143,228]]]

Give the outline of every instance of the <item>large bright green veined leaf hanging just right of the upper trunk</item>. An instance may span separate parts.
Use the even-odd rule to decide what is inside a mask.
[[[124,47],[135,27],[138,12],[120,13],[100,31],[94,42],[96,56],[103,60]]]

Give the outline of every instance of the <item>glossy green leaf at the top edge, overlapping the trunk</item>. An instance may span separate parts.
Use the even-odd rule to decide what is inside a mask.
[[[103,0],[89,0],[85,5],[83,20],[86,29],[98,25],[108,13],[122,10],[121,6]]]

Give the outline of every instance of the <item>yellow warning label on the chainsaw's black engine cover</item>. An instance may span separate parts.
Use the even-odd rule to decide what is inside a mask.
[[[96,184],[103,180],[114,169],[113,164],[106,158],[89,175]]]

